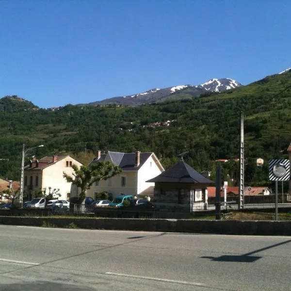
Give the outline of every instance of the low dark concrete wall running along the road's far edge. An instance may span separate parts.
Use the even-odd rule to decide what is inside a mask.
[[[121,218],[53,218],[0,216],[0,224],[68,227],[71,223],[87,229],[143,230],[235,235],[291,235],[291,221],[177,220]]]

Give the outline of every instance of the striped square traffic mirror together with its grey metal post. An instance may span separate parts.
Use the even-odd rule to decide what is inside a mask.
[[[275,221],[278,220],[278,181],[289,181],[290,161],[289,160],[270,160],[269,179],[275,181]]]

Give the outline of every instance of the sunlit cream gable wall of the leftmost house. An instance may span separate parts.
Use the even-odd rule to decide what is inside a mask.
[[[80,162],[74,160],[71,157],[66,157],[61,161],[57,161],[54,164],[51,164],[49,167],[43,169],[42,177],[42,188],[51,187],[52,189],[60,189],[61,197],[60,199],[67,199],[67,194],[71,192],[71,184],[66,181],[63,177],[63,172],[73,177],[72,173],[74,172],[72,167],[66,167],[66,162],[72,162],[77,164],[79,167],[82,165]]]

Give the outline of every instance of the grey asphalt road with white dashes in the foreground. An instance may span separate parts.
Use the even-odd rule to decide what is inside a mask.
[[[0,291],[291,290],[291,237],[0,226]]]

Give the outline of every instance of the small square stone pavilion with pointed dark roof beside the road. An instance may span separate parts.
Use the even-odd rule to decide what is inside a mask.
[[[206,189],[214,184],[184,161],[147,182],[155,183],[153,202],[156,209],[170,212],[207,209]]]

